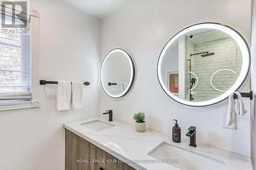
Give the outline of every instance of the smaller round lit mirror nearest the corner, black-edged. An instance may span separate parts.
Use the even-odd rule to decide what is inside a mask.
[[[128,52],[118,48],[105,56],[100,80],[103,90],[111,98],[120,98],[127,94],[133,85],[134,75],[134,61]]]

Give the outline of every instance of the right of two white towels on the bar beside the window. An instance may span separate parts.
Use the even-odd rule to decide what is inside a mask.
[[[72,82],[72,107],[73,109],[82,108],[83,82]]]

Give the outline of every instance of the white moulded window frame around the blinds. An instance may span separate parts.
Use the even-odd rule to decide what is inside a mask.
[[[28,10],[29,11],[29,10]],[[39,86],[39,76],[40,76],[40,46],[39,46],[39,13],[35,10],[29,11],[30,19],[30,60],[31,60],[31,100],[10,100],[17,97],[20,94],[11,95],[10,99],[5,100],[5,102],[0,103],[0,111],[5,110],[16,110],[16,109],[26,109],[26,108],[37,108],[40,107],[40,86]]]

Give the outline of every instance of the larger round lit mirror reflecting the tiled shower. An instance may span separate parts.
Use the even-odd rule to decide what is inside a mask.
[[[157,65],[167,95],[188,106],[208,106],[238,90],[250,68],[245,39],[219,23],[190,26],[164,46]]]

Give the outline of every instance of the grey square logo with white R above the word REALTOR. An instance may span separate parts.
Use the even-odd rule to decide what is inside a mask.
[[[27,28],[27,2],[2,1],[2,28]]]

